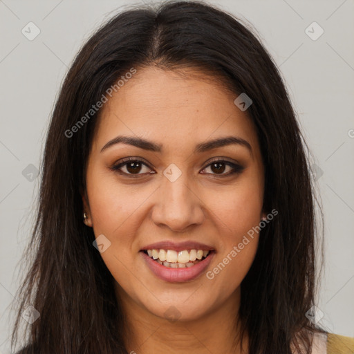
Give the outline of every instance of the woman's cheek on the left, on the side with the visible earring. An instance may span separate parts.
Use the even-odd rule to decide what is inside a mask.
[[[93,172],[87,177],[87,189],[95,237],[103,234],[109,240],[106,241],[109,248],[101,253],[101,257],[113,277],[124,281],[131,277],[130,271],[134,272],[131,252],[136,252],[139,227],[136,218],[149,194],[137,191],[133,186],[124,187],[114,178]]]

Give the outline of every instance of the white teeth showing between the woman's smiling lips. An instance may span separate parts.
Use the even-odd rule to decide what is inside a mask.
[[[190,268],[206,259],[214,250],[141,250],[167,268]]]

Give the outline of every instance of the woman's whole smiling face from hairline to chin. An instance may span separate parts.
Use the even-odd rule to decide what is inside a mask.
[[[127,306],[191,320],[239,295],[257,250],[264,181],[256,131],[235,98],[149,67],[104,104],[83,201]]]

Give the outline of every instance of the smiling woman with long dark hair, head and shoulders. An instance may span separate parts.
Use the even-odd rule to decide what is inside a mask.
[[[346,353],[314,312],[305,146],[238,19],[194,1],[113,17],[55,105],[12,343],[26,317],[19,353]]]

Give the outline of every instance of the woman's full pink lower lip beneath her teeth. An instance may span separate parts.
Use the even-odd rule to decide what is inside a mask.
[[[156,277],[170,282],[181,283],[183,281],[191,281],[196,279],[199,275],[203,273],[205,268],[209,265],[212,261],[215,252],[209,252],[207,258],[203,259],[196,263],[196,265],[192,265],[189,268],[167,268],[165,265],[154,261],[151,257],[149,257],[145,252],[140,251],[142,254],[142,258],[147,263],[148,267],[150,268],[151,272],[156,275]]]

